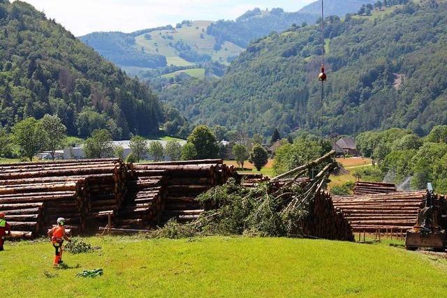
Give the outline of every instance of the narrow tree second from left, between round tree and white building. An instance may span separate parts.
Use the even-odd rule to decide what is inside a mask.
[[[50,114],[45,114],[41,121],[46,135],[45,149],[50,151],[54,161],[55,151],[63,149],[62,147],[65,145],[67,128],[59,117]]]

